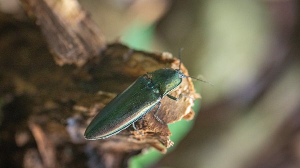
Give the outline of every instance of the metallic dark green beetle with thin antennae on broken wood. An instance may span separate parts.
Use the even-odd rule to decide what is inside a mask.
[[[87,140],[104,139],[117,134],[130,125],[136,130],[134,122],[141,119],[155,106],[158,106],[154,112],[155,119],[164,123],[156,116],[161,105],[160,100],[164,96],[176,101],[179,100],[181,94],[176,98],[168,93],[180,85],[182,78],[194,78],[184,75],[180,70],[181,50],[179,51],[178,69],[162,68],[138,77],[93,118],[84,132],[84,138]],[[138,132],[138,130],[136,131]]]

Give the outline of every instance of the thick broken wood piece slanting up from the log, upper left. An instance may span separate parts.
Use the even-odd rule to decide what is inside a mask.
[[[104,35],[77,0],[22,0],[58,65],[83,65],[105,48]]]

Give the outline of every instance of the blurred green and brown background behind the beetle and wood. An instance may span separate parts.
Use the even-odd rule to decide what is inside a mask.
[[[297,0],[79,0],[107,41],[171,52],[194,82],[192,122],[170,125],[175,147],[130,168],[300,168]],[[21,17],[16,0],[0,11]],[[200,75],[200,76],[199,76]]]

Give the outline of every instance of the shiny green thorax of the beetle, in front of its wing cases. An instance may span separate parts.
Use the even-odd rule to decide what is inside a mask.
[[[180,70],[163,68],[149,72],[145,76],[151,79],[151,83],[158,89],[161,97],[163,97],[180,85],[182,81],[180,74],[182,74]]]

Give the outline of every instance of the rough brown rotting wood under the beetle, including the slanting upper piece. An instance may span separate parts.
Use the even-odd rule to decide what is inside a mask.
[[[131,127],[96,141],[84,140],[83,133],[93,116],[138,76],[178,68],[178,59],[120,43],[106,46],[76,1],[24,2],[42,33],[32,22],[0,15],[0,167],[125,168],[128,158],[143,149],[166,152],[173,144],[171,133],[155,120],[153,111],[136,123],[144,136]],[[75,11],[57,9],[66,2],[76,3]],[[84,17],[78,17],[82,13]],[[181,70],[188,75],[184,66]],[[199,98],[189,78],[171,95],[180,93]],[[193,117],[191,98],[164,98],[161,103],[158,116],[166,123]]]

